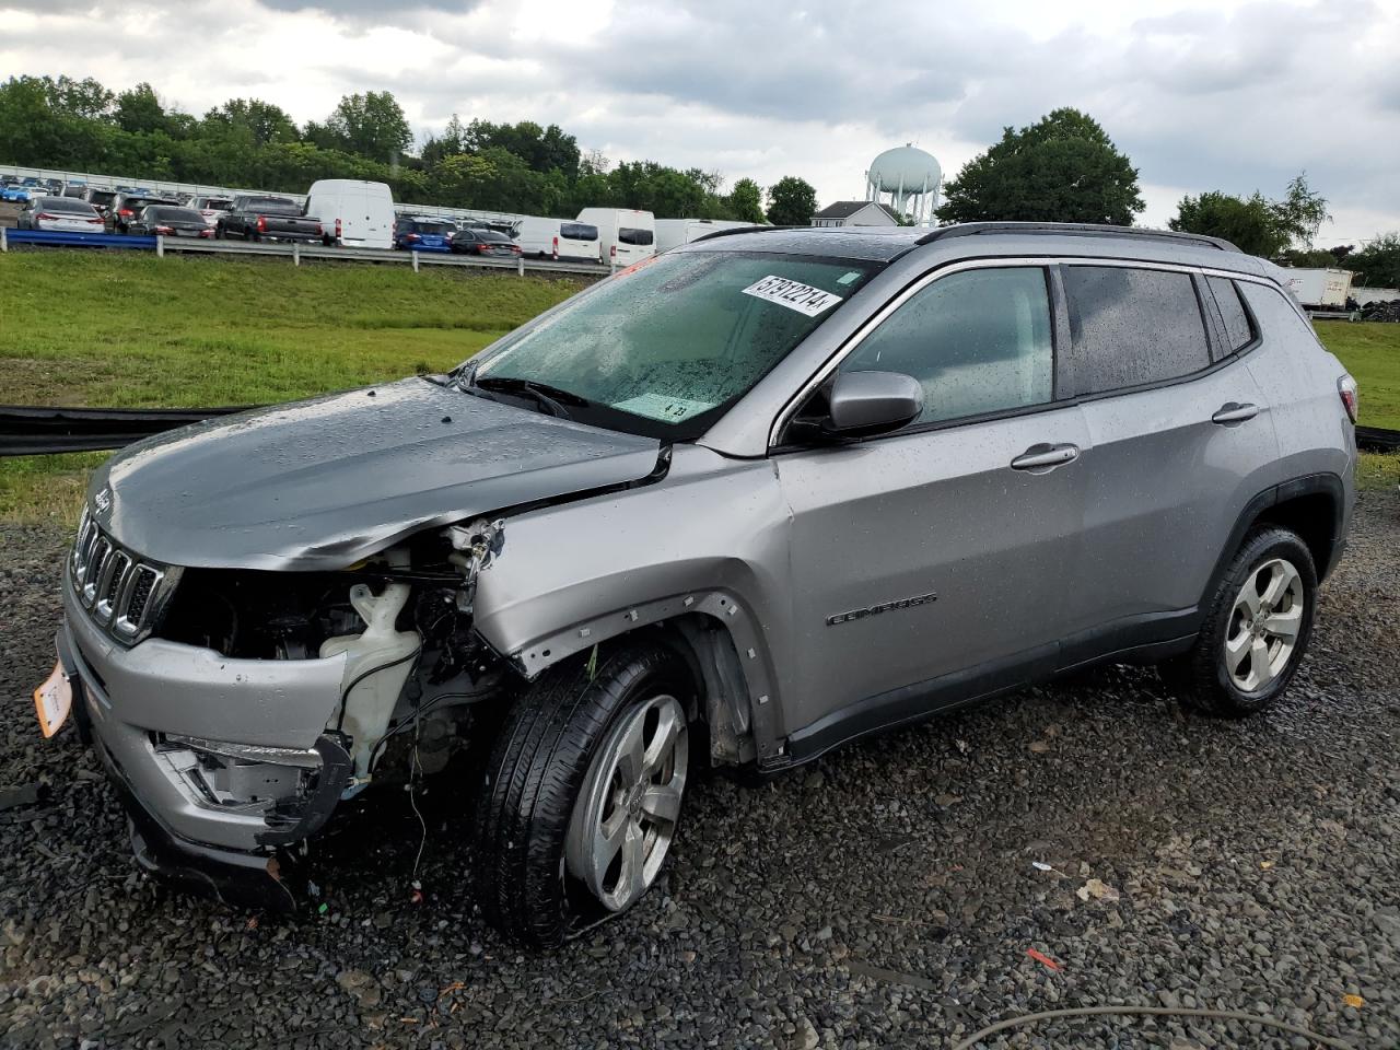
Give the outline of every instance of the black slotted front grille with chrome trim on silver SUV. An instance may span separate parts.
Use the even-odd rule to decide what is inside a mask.
[[[73,545],[73,591],[99,627],[133,645],[155,626],[178,568],[143,561],[115,543],[84,510]]]

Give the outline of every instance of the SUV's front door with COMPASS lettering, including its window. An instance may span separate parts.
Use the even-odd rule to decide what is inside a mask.
[[[1086,448],[1079,409],[1056,400],[1056,330],[1043,266],[938,276],[839,365],[913,375],[920,419],[774,456],[792,512],[798,757],[1053,668]]]

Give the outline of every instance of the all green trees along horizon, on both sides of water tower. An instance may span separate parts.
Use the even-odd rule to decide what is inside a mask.
[[[764,189],[725,188],[720,172],[655,161],[612,164],[559,125],[456,115],[414,151],[388,91],[346,95],[298,126],[280,106],[232,98],[203,116],[167,106],[150,84],[111,91],[92,78],[11,77],[0,84],[0,161],[304,193],[316,179],[386,182],[396,200],[567,218],[584,207],[636,207],[659,218],[806,225],[816,190],[795,175]],[[939,223],[1040,221],[1131,225],[1145,209],[1138,169],[1088,113],[1056,109],[1001,139],[944,186]],[[1315,249],[1327,200],[1299,174],[1281,197],[1211,190],[1186,196],[1168,225],[1224,237],[1294,266],[1345,266],[1366,284],[1400,284],[1400,232]],[[907,221],[907,217],[903,217]]]

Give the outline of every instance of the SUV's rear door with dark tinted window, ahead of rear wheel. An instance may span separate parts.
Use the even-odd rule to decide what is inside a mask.
[[[1239,514],[1278,455],[1268,399],[1184,267],[1060,267],[1067,382],[1089,451],[1084,550],[1064,603],[1067,655],[1165,641],[1196,609]]]

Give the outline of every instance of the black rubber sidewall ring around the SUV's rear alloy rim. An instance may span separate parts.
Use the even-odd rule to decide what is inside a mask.
[[[1246,693],[1235,685],[1221,658],[1225,644],[1225,634],[1229,630],[1235,615],[1235,598],[1239,595],[1245,581],[1257,573],[1266,561],[1285,559],[1298,570],[1303,584],[1303,616],[1298,627],[1298,641],[1292,655],[1282,672],[1263,689]],[[1228,704],[1242,714],[1260,711],[1273,703],[1294,680],[1298,666],[1308,652],[1308,643],[1312,638],[1313,616],[1317,610],[1317,570],[1313,566],[1308,546],[1292,532],[1285,529],[1267,529],[1257,533],[1235,556],[1229,571],[1221,581],[1217,592],[1215,608],[1210,624],[1208,644],[1201,657],[1211,661],[1211,676],[1215,689],[1226,699]]]

